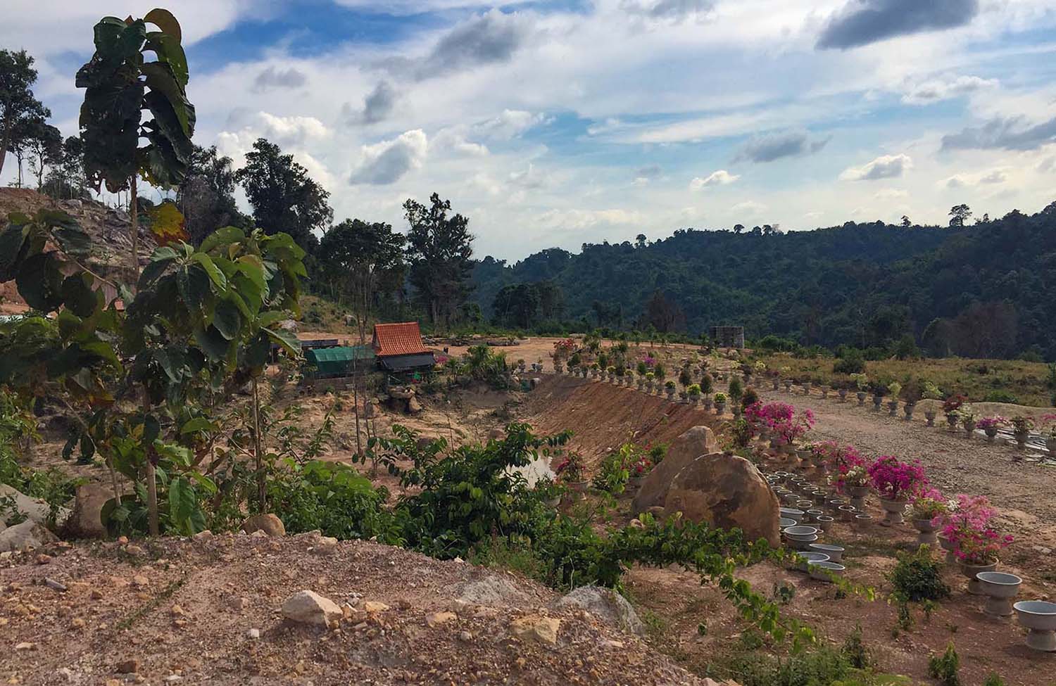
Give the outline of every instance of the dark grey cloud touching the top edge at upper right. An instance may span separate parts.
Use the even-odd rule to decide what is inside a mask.
[[[850,0],[829,18],[817,47],[847,50],[897,36],[956,28],[979,14],[979,0]]]

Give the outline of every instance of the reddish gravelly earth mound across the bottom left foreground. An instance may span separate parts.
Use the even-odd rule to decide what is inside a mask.
[[[702,683],[591,614],[549,609],[559,596],[538,584],[378,544],[227,534],[52,552],[0,560],[4,683]],[[280,607],[302,589],[352,607],[329,629],[290,624]],[[560,620],[557,643],[515,637],[523,616]]]

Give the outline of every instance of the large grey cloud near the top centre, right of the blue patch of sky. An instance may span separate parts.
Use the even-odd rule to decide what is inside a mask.
[[[532,33],[533,22],[528,15],[506,14],[493,8],[449,31],[427,56],[391,59],[385,65],[425,80],[486,64],[505,63],[528,42]]]

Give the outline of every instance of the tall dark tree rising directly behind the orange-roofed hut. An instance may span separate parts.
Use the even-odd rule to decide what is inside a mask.
[[[411,265],[411,284],[430,321],[448,325],[470,292],[473,236],[467,217],[449,216],[450,201],[441,201],[433,193],[429,202],[429,207],[414,199],[403,203],[411,225],[407,259]]]

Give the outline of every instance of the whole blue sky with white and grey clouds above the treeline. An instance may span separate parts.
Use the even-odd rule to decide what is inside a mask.
[[[7,0],[76,129],[99,17]],[[389,221],[437,191],[477,254],[681,227],[944,223],[1056,199],[1051,0],[181,0],[200,145],[259,136]],[[3,183],[10,180],[11,165]]]

